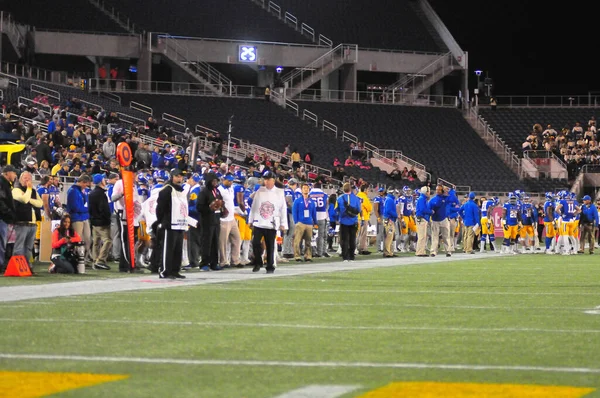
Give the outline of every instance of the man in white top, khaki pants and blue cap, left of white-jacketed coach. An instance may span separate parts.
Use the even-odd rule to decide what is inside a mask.
[[[233,191],[233,180],[235,177],[227,173],[223,182],[217,188],[223,198],[223,204],[227,210],[221,217],[221,228],[219,232],[219,263],[223,268],[235,266],[240,268],[240,230],[235,222],[235,198]],[[228,258],[227,252],[230,251]]]

